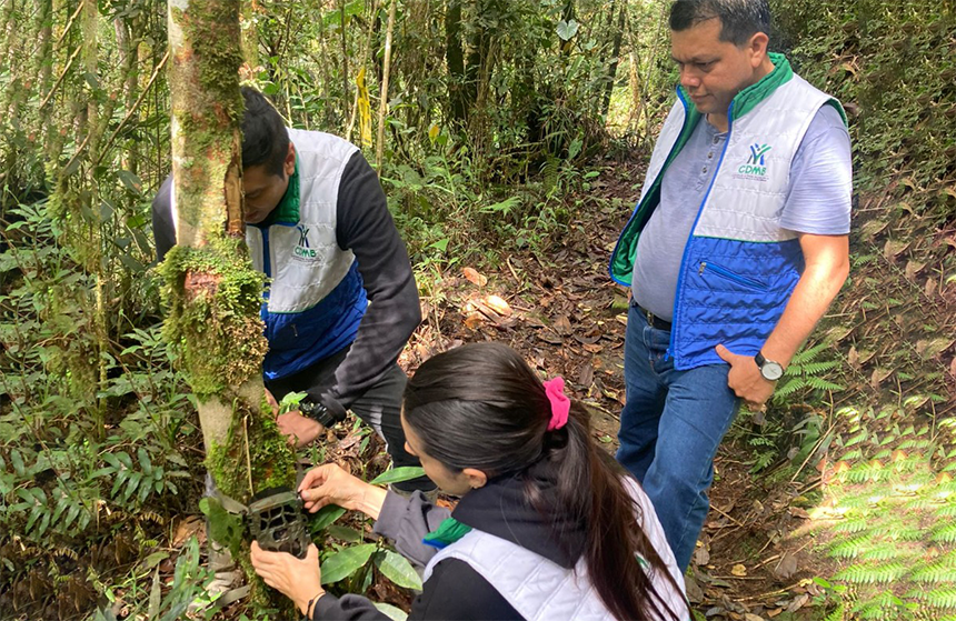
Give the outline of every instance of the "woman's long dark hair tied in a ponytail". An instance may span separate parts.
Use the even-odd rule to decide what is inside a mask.
[[[639,557],[679,590],[641,529],[623,470],[591,440],[588,411],[572,402],[567,424],[548,431],[550,401],[515,350],[472,343],[427,360],[408,381],[404,412],[422,450],[454,472],[522,477],[541,464],[524,477],[525,495],[539,511],[559,507],[584,525],[588,575],[605,607],[621,621],[679,618],[641,569]],[[541,468],[557,490],[548,507],[538,487]],[[551,520],[560,544],[567,521]]]

